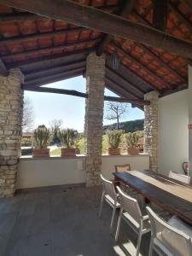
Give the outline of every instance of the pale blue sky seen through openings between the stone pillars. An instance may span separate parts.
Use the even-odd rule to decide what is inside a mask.
[[[80,76],[44,86],[85,92],[85,84],[86,80]],[[116,96],[107,89],[105,95]],[[80,132],[84,131],[84,98],[32,91],[25,91],[25,96],[30,99],[34,108],[33,128],[43,124],[49,126],[49,121],[52,119],[62,119],[63,128],[68,127]],[[130,106],[125,119],[121,119],[121,121],[134,119],[143,119],[143,111]],[[112,123],[114,121],[104,119],[104,125]]]

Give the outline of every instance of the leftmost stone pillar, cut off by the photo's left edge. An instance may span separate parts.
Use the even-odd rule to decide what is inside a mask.
[[[20,69],[11,69],[9,77],[0,76],[0,197],[15,194],[20,157],[23,79]]]

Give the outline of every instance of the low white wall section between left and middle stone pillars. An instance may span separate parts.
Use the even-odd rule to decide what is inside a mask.
[[[17,189],[84,183],[84,158],[20,159]]]

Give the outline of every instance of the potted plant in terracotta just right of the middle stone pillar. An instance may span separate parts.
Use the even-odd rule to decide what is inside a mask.
[[[108,131],[108,154],[120,154],[119,144],[121,143],[122,131]]]

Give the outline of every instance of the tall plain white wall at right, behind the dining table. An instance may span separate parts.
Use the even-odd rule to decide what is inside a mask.
[[[183,172],[189,158],[188,90],[173,93],[159,101],[159,171]]]

